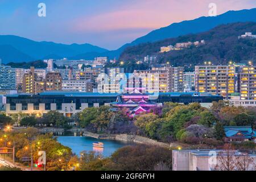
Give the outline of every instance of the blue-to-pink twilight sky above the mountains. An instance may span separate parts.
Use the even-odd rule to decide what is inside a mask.
[[[39,17],[39,3],[46,17]],[[217,14],[251,9],[255,0],[0,0],[0,35],[36,41],[90,43],[117,49],[160,27]]]

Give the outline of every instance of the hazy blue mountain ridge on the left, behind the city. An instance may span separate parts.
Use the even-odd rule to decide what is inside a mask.
[[[32,61],[39,59],[59,59],[87,52],[106,52],[107,49],[91,44],[58,44],[36,42],[14,35],[0,35],[0,57],[3,63],[10,61]],[[4,51],[5,50],[5,51]]]

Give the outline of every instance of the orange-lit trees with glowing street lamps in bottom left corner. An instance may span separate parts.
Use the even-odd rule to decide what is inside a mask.
[[[34,167],[42,167],[35,166],[38,164],[39,151],[46,151],[47,171],[75,169],[79,163],[78,157],[72,154],[71,148],[60,144],[56,137],[50,134],[40,134],[35,128],[13,130],[6,133],[0,131],[0,138],[0,147],[15,146],[15,160],[24,166],[28,166],[30,162],[23,162],[22,158],[30,157],[32,153]]]

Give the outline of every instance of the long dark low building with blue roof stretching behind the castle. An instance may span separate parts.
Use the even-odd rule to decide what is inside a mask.
[[[44,92],[39,94],[7,95],[6,114],[42,115],[49,110],[57,110],[67,117],[80,112],[86,107],[110,105],[117,101],[117,93],[81,93],[81,92]],[[221,96],[206,93],[159,93],[153,102],[162,105],[164,102],[189,104],[199,102],[202,106],[210,106],[213,101],[223,100]]]

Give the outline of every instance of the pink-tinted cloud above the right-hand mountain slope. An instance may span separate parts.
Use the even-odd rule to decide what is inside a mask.
[[[136,3],[135,3],[136,2]],[[147,0],[130,1],[118,10],[98,12],[90,17],[84,16],[73,21],[73,31],[111,31],[126,28],[146,28],[154,30],[174,22],[208,16],[208,5],[212,0]],[[251,8],[251,0],[215,0],[217,13],[230,9]]]

